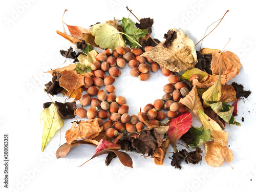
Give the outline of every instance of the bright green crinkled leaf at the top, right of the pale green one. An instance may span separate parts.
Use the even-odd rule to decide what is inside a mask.
[[[121,28],[123,30],[123,39],[126,44],[130,45],[130,47],[137,48],[139,45],[139,38],[144,38],[146,34],[148,34],[147,29],[139,29],[134,27],[135,23],[130,18],[123,17]]]

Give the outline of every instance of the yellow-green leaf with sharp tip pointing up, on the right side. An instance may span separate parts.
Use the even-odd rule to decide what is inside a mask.
[[[204,100],[204,102],[203,102],[204,108],[206,108],[207,106],[210,106],[210,104],[215,101],[217,101],[217,102],[220,101],[220,99],[221,99],[221,73],[219,75],[217,82],[202,94],[202,98]]]

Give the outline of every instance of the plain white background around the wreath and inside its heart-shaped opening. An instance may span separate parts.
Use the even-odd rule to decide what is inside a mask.
[[[22,3],[27,2],[27,3]],[[3,191],[252,191],[255,188],[255,10],[253,1],[1,1],[1,112],[0,159],[3,159],[3,137],[9,134],[9,189],[4,188],[4,166],[0,168],[0,190]],[[65,143],[65,132],[70,119],[65,120],[61,133],[57,132],[41,152],[42,127],[39,116],[42,103],[50,101],[35,80],[44,87],[51,80],[44,72],[66,66],[69,59],[59,50],[71,44],[56,34],[63,31],[62,14],[68,9],[64,21],[68,25],[89,28],[96,22],[114,17],[128,17],[129,6],[138,18],[154,18],[153,37],[163,40],[168,29],[181,27],[198,42],[206,28],[221,18],[222,23],[204,41],[202,47],[225,50],[237,54],[242,63],[240,74],[232,79],[251,90],[248,99],[238,103],[236,120],[242,126],[226,126],[233,161],[213,168],[202,160],[193,165],[183,162],[182,169],[170,166],[166,154],[163,166],[154,164],[152,158],[129,152],[133,167],[124,167],[118,159],[105,166],[105,156],[81,163],[91,158],[95,147],[76,146],[66,158],[56,159],[55,152]],[[15,13],[16,12],[16,13]],[[136,18],[130,15],[136,22]],[[215,26],[215,23],[212,26]],[[212,26],[210,29],[212,29]],[[200,49],[200,45],[196,47]],[[129,75],[129,67],[114,83],[118,96],[125,96],[130,105],[129,114],[163,95],[162,87],[168,83],[161,72],[152,73],[150,80],[139,81]],[[35,80],[33,80],[33,78]],[[53,100],[63,101],[61,96]],[[79,106],[79,103],[77,103]],[[241,119],[244,117],[245,121]],[[199,125],[196,120],[194,125]],[[182,146],[178,145],[178,148]],[[169,147],[169,151],[173,151]],[[1,154],[2,153],[2,154]],[[204,154],[202,154],[204,156]],[[3,164],[2,162],[1,164]]]

